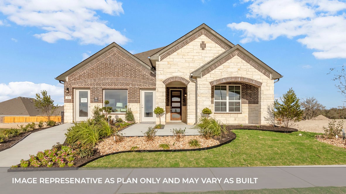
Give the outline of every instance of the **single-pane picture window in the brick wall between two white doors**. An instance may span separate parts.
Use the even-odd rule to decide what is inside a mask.
[[[126,112],[127,108],[127,90],[103,90],[103,102],[109,101],[109,104],[103,106],[112,107],[112,112]]]

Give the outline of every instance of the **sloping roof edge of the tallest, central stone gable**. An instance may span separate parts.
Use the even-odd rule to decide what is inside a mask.
[[[211,35],[213,35],[214,37],[216,37],[220,42],[224,43],[225,45],[227,45],[229,48],[234,47],[234,44],[229,42],[227,39],[225,39],[224,37],[222,37],[219,33],[217,33],[216,31],[214,31],[213,29],[211,29],[207,24],[203,23],[202,25],[200,25],[199,27],[193,29],[191,32],[183,35],[180,39],[174,41],[173,43],[171,43],[170,45],[168,45],[167,47],[164,47],[163,49],[161,49],[160,51],[154,53],[153,55],[150,56],[150,60],[159,60],[159,57],[161,54],[164,54],[165,52],[171,50],[172,48],[174,48],[176,45],[180,44],[181,42],[189,39],[190,37],[192,37],[194,34],[196,34],[197,32],[201,31],[201,30],[206,30],[207,32],[209,32]]]

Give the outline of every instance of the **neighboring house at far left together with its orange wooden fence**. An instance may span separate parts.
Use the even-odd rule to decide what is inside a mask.
[[[0,123],[39,122],[46,121],[47,115],[35,106],[33,98],[17,97],[0,102]],[[61,122],[64,106],[58,106],[51,120]]]

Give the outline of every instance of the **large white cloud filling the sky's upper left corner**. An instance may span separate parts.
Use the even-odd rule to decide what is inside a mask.
[[[45,33],[34,36],[46,42],[78,40],[81,44],[125,44],[125,35],[107,26],[96,11],[109,15],[124,13],[116,0],[5,0],[0,1],[0,12],[18,25],[40,28]]]

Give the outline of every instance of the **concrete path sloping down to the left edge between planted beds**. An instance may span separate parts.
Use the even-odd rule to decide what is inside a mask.
[[[13,147],[0,152],[0,167],[19,164],[21,159],[28,160],[29,154],[51,149],[57,142],[64,143],[66,130],[71,126],[73,126],[72,123],[65,123],[31,133]]]

